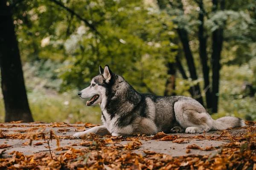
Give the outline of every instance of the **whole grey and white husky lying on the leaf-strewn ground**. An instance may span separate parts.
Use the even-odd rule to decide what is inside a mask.
[[[73,136],[83,138],[90,133],[112,136],[134,134],[202,133],[245,126],[237,117],[213,120],[195,99],[186,96],[154,96],[137,92],[125,79],[112,73],[108,65],[94,77],[89,87],[78,94],[91,98],[87,105],[99,104],[103,126],[93,127]]]

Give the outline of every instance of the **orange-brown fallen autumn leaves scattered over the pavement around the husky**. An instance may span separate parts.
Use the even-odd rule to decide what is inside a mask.
[[[219,136],[207,135],[207,133],[199,134],[198,136],[184,137],[182,133],[179,135],[167,135],[163,132],[155,136],[135,135],[133,137],[116,137],[116,136],[98,136],[90,134],[83,142],[80,143],[80,148],[75,149],[73,146],[59,146],[57,151],[62,151],[60,154],[55,154],[54,150],[49,148],[47,153],[35,153],[26,156],[23,153],[14,151],[10,153],[9,158],[0,159],[0,169],[106,169],[106,170],[182,170],[182,169],[198,169],[198,170],[256,170],[256,122],[247,122],[249,126],[245,127],[246,133],[231,135],[229,130],[220,132]],[[0,127],[5,124],[1,124]],[[33,125],[33,124],[32,124]],[[70,127],[68,124],[51,124],[55,127]],[[89,126],[90,125],[90,126]],[[17,124],[16,126],[19,126]],[[76,126],[76,125],[74,125]],[[85,124],[87,127],[95,125]],[[32,126],[33,127],[33,126]],[[68,129],[68,128],[67,128]],[[0,139],[29,139],[35,141],[35,147],[41,145],[36,140],[44,139],[45,142],[50,140],[63,139],[63,136],[57,136],[53,131],[43,132],[44,126],[37,130],[28,131],[26,134],[5,134],[0,131]],[[61,131],[61,130],[60,130]],[[61,132],[65,132],[61,131]],[[14,136],[12,136],[14,135]],[[65,138],[64,138],[65,139]],[[209,155],[187,155],[172,157],[166,154],[159,154],[150,150],[143,150],[144,155],[134,153],[133,151],[140,148],[142,141],[157,140],[170,141],[178,144],[186,143],[191,139],[197,140],[221,140],[229,141],[228,144],[220,147],[202,148],[196,144],[189,145],[186,152],[190,150],[214,150]],[[72,140],[76,139],[70,139]],[[119,144],[121,141],[128,141],[126,144]],[[61,145],[61,141],[57,142]],[[8,143],[1,144],[0,156],[8,149]],[[5,149],[4,149],[5,148]],[[51,150],[51,152],[50,152]]]

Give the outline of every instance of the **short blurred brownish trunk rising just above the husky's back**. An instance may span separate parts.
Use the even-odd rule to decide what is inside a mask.
[[[175,62],[168,63],[168,71],[167,71],[167,81],[166,88],[164,91],[164,96],[175,96],[175,80],[176,80],[176,68]]]

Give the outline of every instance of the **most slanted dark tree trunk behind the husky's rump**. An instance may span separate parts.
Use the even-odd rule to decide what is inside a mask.
[[[180,41],[183,45],[183,50],[184,50],[184,53],[185,53],[187,65],[189,67],[190,77],[192,78],[192,80],[196,80],[196,79],[198,79],[198,77],[197,77],[196,70],[195,70],[195,63],[194,63],[194,59],[193,59],[193,56],[192,56],[192,52],[189,48],[189,39],[188,39],[187,32],[183,28],[178,28],[177,32],[178,32],[178,35],[180,37]],[[195,88],[193,89],[192,97],[195,98],[202,105],[204,105],[203,98],[202,98],[202,95],[201,95],[201,90],[200,90],[200,87],[199,87],[199,83],[197,83],[194,87]]]

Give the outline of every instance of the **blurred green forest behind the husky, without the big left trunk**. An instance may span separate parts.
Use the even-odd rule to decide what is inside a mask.
[[[0,17],[10,11],[6,23],[14,25],[35,121],[100,123],[99,106],[87,107],[77,92],[106,64],[139,92],[192,96],[213,118],[256,120],[254,0],[3,2]],[[8,37],[5,26],[0,40]],[[8,76],[4,62],[13,57],[4,43],[2,86]],[[0,122],[8,121],[4,99],[8,104],[20,98],[9,95],[13,99],[7,101],[4,94]]]

